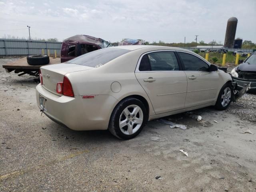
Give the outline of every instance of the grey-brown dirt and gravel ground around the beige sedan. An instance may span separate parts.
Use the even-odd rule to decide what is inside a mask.
[[[11,60],[0,59],[1,192],[256,191],[256,94],[226,111],[209,107],[167,117],[187,130],[151,121],[139,136],[122,141],[41,116],[34,78],[6,73],[2,64]]]

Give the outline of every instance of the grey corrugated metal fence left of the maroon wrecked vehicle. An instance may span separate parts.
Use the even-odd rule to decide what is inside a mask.
[[[50,54],[54,54],[54,50],[57,54],[60,54],[61,42],[45,42],[34,40],[17,40],[17,39],[0,39],[0,55],[33,55],[47,54],[50,50]]]

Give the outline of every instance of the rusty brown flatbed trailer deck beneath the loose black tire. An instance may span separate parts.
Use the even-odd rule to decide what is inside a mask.
[[[58,64],[58,63],[60,63],[60,58],[50,57],[50,62],[47,65]],[[45,65],[29,65],[27,62],[27,57],[24,57],[24,58],[20,58],[20,59],[14,61],[14,62],[4,64],[3,68],[8,73],[14,71],[14,73],[17,73],[18,76],[22,76],[24,74],[38,76],[39,68],[41,66],[45,66]]]

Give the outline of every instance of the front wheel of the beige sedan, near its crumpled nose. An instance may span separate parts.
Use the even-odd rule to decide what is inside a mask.
[[[228,108],[234,97],[233,89],[230,83],[226,83],[220,90],[215,108],[225,110]]]

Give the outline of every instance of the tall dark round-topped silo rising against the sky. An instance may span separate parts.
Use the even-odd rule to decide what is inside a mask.
[[[225,36],[225,41],[224,41],[224,46],[226,48],[233,48],[233,46],[234,46],[237,21],[238,20],[235,17],[231,17],[228,19],[226,36]]]

